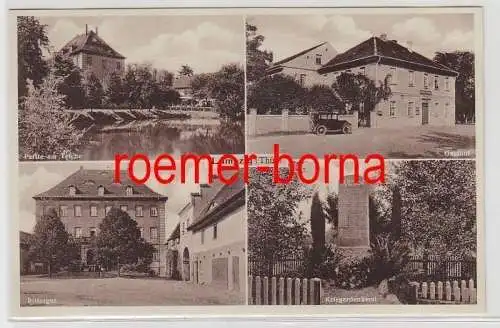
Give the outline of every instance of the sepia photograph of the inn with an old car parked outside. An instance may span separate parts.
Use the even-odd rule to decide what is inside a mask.
[[[475,158],[477,16],[249,15],[248,151]]]

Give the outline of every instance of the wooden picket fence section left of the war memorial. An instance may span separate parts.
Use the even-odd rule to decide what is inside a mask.
[[[321,279],[248,277],[249,305],[321,304]]]

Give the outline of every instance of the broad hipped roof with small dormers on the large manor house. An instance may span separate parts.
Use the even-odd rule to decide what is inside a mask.
[[[80,167],[78,171],[68,176],[51,189],[42,192],[34,199],[51,198],[142,198],[167,200],[167,197],[153,191],[148,186],[135,184],[130,180],[127,171],[121,171],[121,183],[114,183],[114,170],[87,170]],[[75,195],[69,194],[69,187],[75,187]],[[99,187],[104,187],[104,195],[98,194]],[[132,187],[132,195],[127,195],[127,187]]]

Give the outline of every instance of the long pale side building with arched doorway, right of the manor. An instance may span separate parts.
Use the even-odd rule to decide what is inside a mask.
[[[166,271],[196,284],[245,292],[245,222],[241,180],[201,185],[180,211],[179,224],[167,241]]]

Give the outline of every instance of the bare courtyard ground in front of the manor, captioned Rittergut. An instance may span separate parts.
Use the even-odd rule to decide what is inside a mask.
[[[21,306],[244,304],[243,292],[150,278],[49,279],[21,277]]]

